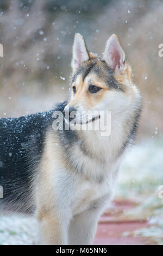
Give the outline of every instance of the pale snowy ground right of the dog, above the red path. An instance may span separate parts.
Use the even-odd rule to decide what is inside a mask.
[[[163,141],[146,139],[129,150],[121,166],[117,196],[137,200],[147,199],[150,193],[158,198],[158,187],[163,185]],[[162,201],[163,202],[163,201]]]

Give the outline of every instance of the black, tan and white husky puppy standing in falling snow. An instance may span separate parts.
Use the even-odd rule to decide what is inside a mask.
[[[0,210],[35,215],[42,244],[91,245],[135,138],[141,105],[117,36],[110,36],[100,58],[76,34],[70,99],[52,111],[0,119]],[[100,129],[71,129],[66,115],[72,112],[76,124],[101,120],[89,111],[110,111],[109,136]],[[61,129],[53,127],[57,120]]]

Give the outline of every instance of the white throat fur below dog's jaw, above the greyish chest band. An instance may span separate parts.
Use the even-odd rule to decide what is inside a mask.
[[[98,157],[114,162],[120,157],[127,147],[127,140],[130,129],[126,128],[125,122],[121,124],[112,120],[111,132],[108,136],[103,136],[103,131],[79,131],[78,137],[81,140],[80,148],[85,150],[90,156]]]

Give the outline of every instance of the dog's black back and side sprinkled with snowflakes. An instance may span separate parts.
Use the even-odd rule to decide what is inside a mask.
[[[30,186],[52,114],[49,111],[0,119],[0,185],[3,187],[0,210],[33,212]]]

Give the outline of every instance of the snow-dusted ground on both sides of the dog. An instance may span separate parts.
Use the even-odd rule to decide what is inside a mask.
[[[128,218],[146,218],[153,227],[135,231],[135,236],[163,241],[163,199],[158,188],[163,185],[163,148],[161,139],[148,139],[135,145],[123,161],[115,198],[131,199],[137,207],[126,214]],[[130,233],[125,233],[125,236]],[[1,245],[34,245],[37,243],[37,223],[34,218],[0,217]]]

